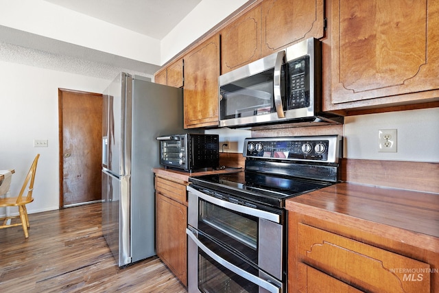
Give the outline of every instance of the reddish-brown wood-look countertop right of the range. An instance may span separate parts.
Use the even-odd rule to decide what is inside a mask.
[[[290,198],[286,208],[318,213],[337,224],[361,222],[370,231],[390,233],[394,227],[433,236],[439,253],[439,194],[338,183]]]

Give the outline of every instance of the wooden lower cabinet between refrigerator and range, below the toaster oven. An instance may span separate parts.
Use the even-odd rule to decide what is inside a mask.
[[[156,174],[156,253],[187,286],[187,182]]]

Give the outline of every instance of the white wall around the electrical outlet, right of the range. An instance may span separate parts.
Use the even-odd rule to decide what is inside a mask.
[[[397,130],[397,152],[378,152],[378,130]],[[344,157],[439,162],[439,108],[345,117]]]

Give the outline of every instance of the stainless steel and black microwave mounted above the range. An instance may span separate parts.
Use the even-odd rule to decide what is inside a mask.
[[[219,76],[219,126],[340,124],[322,113],[322,44],[308,38]]]

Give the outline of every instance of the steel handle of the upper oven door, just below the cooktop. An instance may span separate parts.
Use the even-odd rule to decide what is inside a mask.
[[[195,194],[199,198],[206,200],[207,202],[211,202],[212,204],[216,204],[219,207],[225,207],[226,209],[231,209],[233,211],[239,211],[240,213],[245,213],[247,215],[253,215],[257,218],[263,218],[265,220],[269,220],[272,222],[280,223],[281,215],[277,215],[276,213],[270,213],[269,211],[263,211],[261,209],[254,209],[252,207],[246,207],[241,204],[234,204],[233,202],[228,202],[226,200],[221,200],[219,198],[215,198],[213,196],[209,196],[207,194],[203,194],[201,191],[194,189],[193,187],[188,186],[187,191]]]

